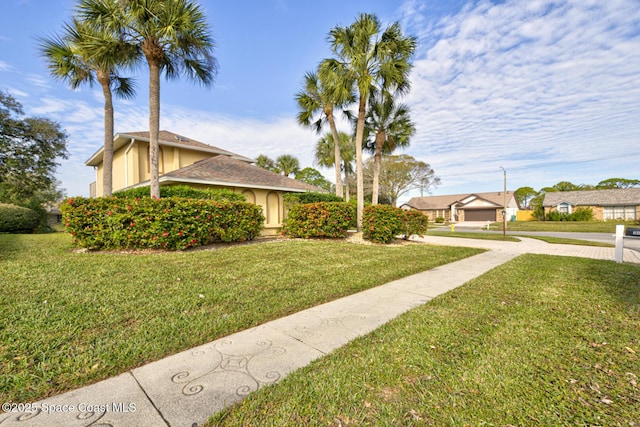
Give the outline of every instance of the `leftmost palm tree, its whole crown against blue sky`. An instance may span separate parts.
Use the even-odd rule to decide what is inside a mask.
[[[113,97],[134,95],[132,80],[121,77],[118,68],[132,65],[135,52],[116,33],[93,28],[87,22],[73,19],[65,24],[62,36],[42,38],[40,50],[51,75],[67,82],[72,89],[83,84],[102,87],[104,96],[104,151],[102,159],[102,195],[111,196],[113,189]]]

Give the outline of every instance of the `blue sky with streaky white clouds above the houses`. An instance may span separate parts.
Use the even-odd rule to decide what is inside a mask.
[[[404,153],[441,177],[432,194],[500,191],[500,167],[510,189],[640,179],[638,0],[200,3],[219,74],[211,88],[163,80],[161,129],[313,166],[318,136],[296,124],[294,95],[304,73],[330,55],[330,29],[367,12],[418,38],[404,100],[417,133]],[[57,177],[67,194],[88,195],[95,174],[84,162],[102,143],[101,92],[54,80],[37,48],[74,4],[2,0],[0,88],[27,114],[67,130],[71,156]],[[116,100],[116,132],[148,126],[147,75],[143,67],[135,74],[136,98]]]

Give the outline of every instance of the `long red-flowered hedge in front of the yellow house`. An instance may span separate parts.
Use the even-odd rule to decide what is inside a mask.
[[[182,250],[251,240],[264,226],[259,206],[235,201],[75,197],[60,211],[74,243],[88,249]]]

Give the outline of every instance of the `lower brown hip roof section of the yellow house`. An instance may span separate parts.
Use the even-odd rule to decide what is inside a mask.
[[[287,191],[323,189],[259,168],[227,156],[200,160],[160,177],[160,182],[192,182],[231,187],[268,188]]]

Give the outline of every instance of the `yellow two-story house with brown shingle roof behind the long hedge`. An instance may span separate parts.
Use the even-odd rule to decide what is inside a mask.
[[[168,131],[160,131],[158,167],[160,185],[227,188],[260,205],[265,215],[263,234],[282,226],[285,193],[324,190],[259,168],[253,159]],[[104,147],[85,162],[96,170],[91,197],[102,196]],[[114,137],[113,191],[149,185],[149,132],[119,133]]]

